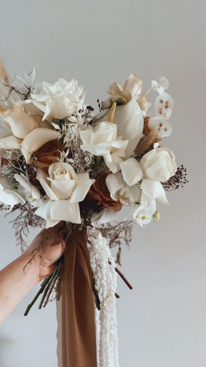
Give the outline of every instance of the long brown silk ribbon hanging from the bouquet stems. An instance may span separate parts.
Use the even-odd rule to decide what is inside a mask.
[[[62,290],[62,367],[97,367],[95,307],[87,231],[71,232]]]

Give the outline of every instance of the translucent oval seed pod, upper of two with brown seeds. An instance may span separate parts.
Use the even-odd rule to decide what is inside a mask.
[[[173,106],[173,99],[168,93],[158,95],[154,103],[155,115],[168,120],[172,114]]]

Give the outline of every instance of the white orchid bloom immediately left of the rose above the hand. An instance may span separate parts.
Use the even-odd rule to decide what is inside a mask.
[[[15,180],[19,183],[18,192],[24,200],[28,201],[33,208],[37,208],[43,203],[40,192],[36,186],[29,182],[29,179],[23,178],[19,174],[14,175]]]

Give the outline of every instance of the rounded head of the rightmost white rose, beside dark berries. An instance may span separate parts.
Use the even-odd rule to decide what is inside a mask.
[[[174,159],[174,154],[169,149],[154,148],[150,150],[140,160],[144,177],[154,181],[167,181],[177,170]]]

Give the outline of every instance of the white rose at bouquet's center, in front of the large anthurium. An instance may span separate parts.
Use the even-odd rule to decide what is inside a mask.
[[[113,173],[119,171],[119,163],[125,158],[128,140],[122,140],[122,136],[117,137],[116,124],[102,121],[95,128],[88,126],[87,130],[80,131],[80,137],[82,150],[103,157]]]

